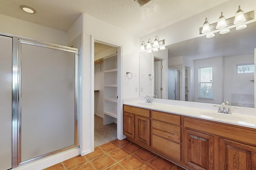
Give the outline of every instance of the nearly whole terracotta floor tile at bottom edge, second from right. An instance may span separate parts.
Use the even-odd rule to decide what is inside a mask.
[[[118,163],[128,170],[138,169],[145,164],[142,160],[133,155],[125,158],[124,160]]]

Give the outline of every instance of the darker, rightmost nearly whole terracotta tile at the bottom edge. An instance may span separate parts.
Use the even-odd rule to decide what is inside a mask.
[[[157,156],[149,163],[150,166],[153,166],[154,168],[158,170],[172,170],[175,164],[172,162],[169,162],[168,160],[165,160],[164,158],[161,158],[160,156]]]

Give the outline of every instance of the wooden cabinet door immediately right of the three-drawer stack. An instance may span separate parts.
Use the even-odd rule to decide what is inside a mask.
[[[213,170],[214,137],[184,130],[184,160],[197,170]]]

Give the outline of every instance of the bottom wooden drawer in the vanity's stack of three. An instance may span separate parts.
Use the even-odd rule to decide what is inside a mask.
[[[177,143],[152,135],[152,147],[172,158],[181,160],[181,147]]]

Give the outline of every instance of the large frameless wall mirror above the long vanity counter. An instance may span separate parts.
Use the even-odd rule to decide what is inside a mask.
[[[166,84],[158,98],[211,104],[228,99],[232,106],[255,107],[254,71],[243,73],[255,68],[255,48],[256,22],[252,22],[246,29],[232,28],[224,35],[215,33],[212,38],[202,36],[168,45],[167,61],[161,51],[141,53],[140,97],[154,96]],[[161,70],[162,77],[156,70],[157,61],[168,63]],[[208,76],[206,80],[204,76]]]

